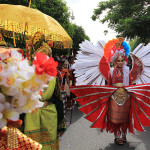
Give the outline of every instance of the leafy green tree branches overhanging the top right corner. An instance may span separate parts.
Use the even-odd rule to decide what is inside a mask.
[[[107,11],[104,18],[101,15]],[[138,37],[141,42],[150,39],[149,0],[108,0],[99,2],[92,20],[108,22],[108,27],[127,39]]]

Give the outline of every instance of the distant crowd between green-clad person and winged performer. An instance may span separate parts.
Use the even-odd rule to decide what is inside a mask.
[[[58,61],[58,78],[59,85],[61,87],[61,93],[64,100],[64,109],[70,110],[72,108],[73,95],[69,90],[70,86],[75,86],[75,76],[74,69],[72,68],[74,64],[74,56],[70,55],[61,56],[57,58]]]

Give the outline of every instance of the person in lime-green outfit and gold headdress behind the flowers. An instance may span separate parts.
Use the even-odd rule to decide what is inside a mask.
[[[35,33],[31,39],[30,59],[33,60],[37,52],[52,57],[52,51],[45,42],[45,36],[41,32]],[[41,60],[42,61],[42,60]],[[44,62],[41,62],[44,63]],[[42,65],[42,64],[41,64]],[[53,66],[48,64],[53,70]],[[54,72],[57,75],[57,71]],[[65,130],[63,102],[60,94],[58,78],[55,77],[48,83],[48,88],[42,91],[42,102],[44,106],[25,116],[24,133],[42,144],[42,150],[58,150],[58,134]]]

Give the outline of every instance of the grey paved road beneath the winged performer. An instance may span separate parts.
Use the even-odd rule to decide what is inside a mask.
[[[69,120],[69,117],[67,112],[66,119]],[[72,124],[60,139],[60,150],[150,150],[150,128],[146,128],[144,133],[128,134],[128,142],[117,146],[113,134],[101,133],[99,129],[91,129],[90,125],[76,106]]]

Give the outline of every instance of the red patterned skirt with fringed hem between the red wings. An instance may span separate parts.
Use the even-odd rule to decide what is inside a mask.
[[[121,133],[126,134],[129,127],[129,113],[130,113],[130,98],[124,104],[119,105],[113,98],[110,99],[108,109],[108,124],[107,131],[120,136]]]

